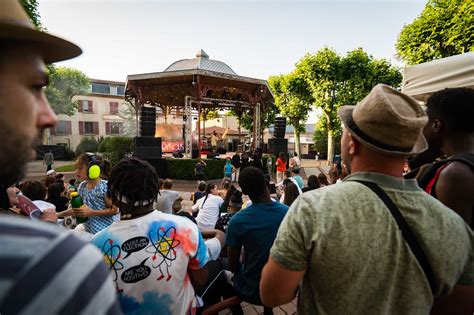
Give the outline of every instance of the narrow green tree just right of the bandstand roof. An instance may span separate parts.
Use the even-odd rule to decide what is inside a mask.
[[[304,77],[292,72],[286,75],[271,76],[268,83],[280,113],[293,126],[295,150],[300,154],[300,134],[305,132],[313,99]]]

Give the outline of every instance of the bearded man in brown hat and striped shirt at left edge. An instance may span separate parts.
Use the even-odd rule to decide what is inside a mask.
[[[45,64],[81,49],[39,32],[17,0],[0,1],[0,208],[24,176],[44,129],[56,124]],[[1,314],[121,313],[102,256],[54,224],[0,217]]]

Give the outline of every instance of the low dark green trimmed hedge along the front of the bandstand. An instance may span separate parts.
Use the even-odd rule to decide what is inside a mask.
[[[207,164],[204,169],[205,180],[219,179],[224,176],[224,159],[204,160],[204,162]],[[194,168],[196,163],[197,160],[195,159],[167,159],[168,177],[173,179],[193,180],[195,179]]]

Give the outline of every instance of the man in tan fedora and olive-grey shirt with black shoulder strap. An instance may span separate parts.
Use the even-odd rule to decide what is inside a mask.
[[[402,178],[422,152],[419,104],[379,84],[343,106],[341,152],[351,175],[301,195],[262,272],[262,302],[298,297],[299,314],[429,314],[435,297],[474,283],[473,234],[461,217]]]

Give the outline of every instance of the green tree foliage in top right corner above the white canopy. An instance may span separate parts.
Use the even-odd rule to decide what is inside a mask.
[[[395,47],[398,57],[411,65],[474,51],[474,2],[429,0],[403,27]]]

